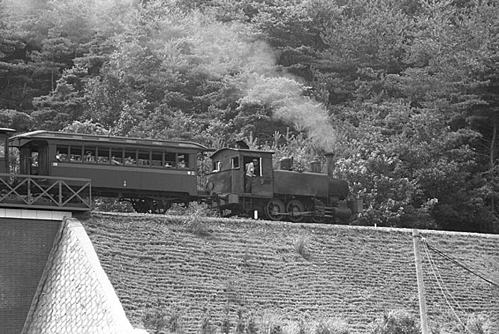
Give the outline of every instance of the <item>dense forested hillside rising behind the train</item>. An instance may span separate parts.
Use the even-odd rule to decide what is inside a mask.
[[[0,126],[336,154],[351,224],[499,231],[499,1],[2,0]]]

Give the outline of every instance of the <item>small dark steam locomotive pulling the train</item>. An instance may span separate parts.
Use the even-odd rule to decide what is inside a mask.
[[[319,160],[311,162],[312,172],[293,170],[292,159],[283,158],[274,169],[274,152],[246,148],[223,148],[212,155],[212,173],[207,176],[210,206],[222,216],[249,214],[271,220],[321,223],[348,219],[361,212],[361,200],[346,202],[349,185],[334,179],[334,155],[326,155],[326,173]],[[254,161],[254,176],[245,178]],[[250,186],[245,184],[251,182]],[[246,186],[246,187],[245,187]]]

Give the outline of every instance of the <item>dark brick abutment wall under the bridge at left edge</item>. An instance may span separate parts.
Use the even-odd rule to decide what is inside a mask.
[[[0,334],[21,333],[60,225],[0,219]]]

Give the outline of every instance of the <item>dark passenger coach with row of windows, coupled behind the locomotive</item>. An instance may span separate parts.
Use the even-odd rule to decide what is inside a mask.
[[[91,179],[93,196],[129,200],[137,212],[162,213],[197,199],[195,142],[34,131],[11,137],[20,173]]]

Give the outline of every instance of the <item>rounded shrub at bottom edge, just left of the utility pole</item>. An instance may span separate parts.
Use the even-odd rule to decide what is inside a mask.
[[[391,310],[371,323],[371,334],[419,334],[419,325],[406,310]]]

